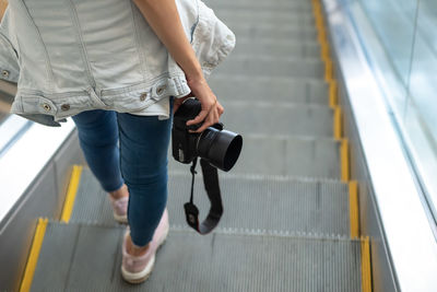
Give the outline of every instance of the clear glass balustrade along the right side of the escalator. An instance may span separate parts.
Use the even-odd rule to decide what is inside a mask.
[[[343,5],[437,220],[437,1],[345,0]]]

